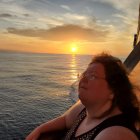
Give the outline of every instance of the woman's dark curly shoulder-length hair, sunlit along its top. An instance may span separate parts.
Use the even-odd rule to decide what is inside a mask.
[[[114,94],[112,106],[108,113],[115,106],[118,106],[129,117],[130,121],[139,122],[140,107],[134,92],[136,86],[131,83],[128,77],[129,72],[121,60],[112,55],[102,53],[94,56],[90,64],[92,63],[101,63],[104,66],[106,81]]]

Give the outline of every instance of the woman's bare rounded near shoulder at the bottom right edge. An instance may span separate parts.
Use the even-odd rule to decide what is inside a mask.
[[[102,130],[94,140],[139,140],[133,131],[123,126],[110,126]]]

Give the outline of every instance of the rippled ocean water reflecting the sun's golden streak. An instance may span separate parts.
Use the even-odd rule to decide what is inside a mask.
[[[39,124],[65,112],[90,55],[0,52],[0,140],[24,140]],[[140,82],[140,65],[132,73]]]

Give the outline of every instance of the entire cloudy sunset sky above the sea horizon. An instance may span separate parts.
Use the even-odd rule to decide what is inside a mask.
[[[138,11],[139,0],[0,0],[0,50],[127,55]]]

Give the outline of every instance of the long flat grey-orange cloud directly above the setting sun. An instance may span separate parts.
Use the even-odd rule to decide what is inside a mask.
[[[63,25],[50,29],[16,29],[7,28],[8,33],[38,37],[50,41],[90,41],[90,42],[103,42],[109,34],[109,31],[85,28],[78,25]]]

